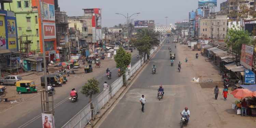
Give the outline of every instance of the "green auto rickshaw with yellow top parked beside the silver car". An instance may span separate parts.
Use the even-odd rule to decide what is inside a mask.
[[[37,92],[34,81],[21,80],[16,82],[16,91],[18,94]]]

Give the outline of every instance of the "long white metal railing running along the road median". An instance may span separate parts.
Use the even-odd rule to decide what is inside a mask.
[[[165,42],[165,40],[161,41],[160,45]],[[156,52],[157,48],[158,47],[151,49],[150,55]],[[147,60],[147,55],[145,56],[145,60]],[[142,66],[143,63],[144,58],[137,61],[133,66],[131,66],[130,70],[125,72],[126,81]],[[98,113],[100,109],[108,103],[110,98],[113,97],[123,85],[123,76],[121,76],[113,82],[110,87],[103,90],[96,98],[93,99],[91,102],[94,106],[93,110],[91,110],[90,103],[88,103],[80,112],[63,125],[62,128],[84,128],[84,126],[91,120],[92,116],[95,118],[96,113]]]

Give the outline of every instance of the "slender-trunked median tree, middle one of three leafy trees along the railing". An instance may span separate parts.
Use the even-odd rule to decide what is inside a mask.
[[[131,54],[125,52],[125,49],[123,47],[119,47],[114,58],[116,61],[116,68],[121,68],[121,74],[123,74],[124,85],[126,85],[125,71],[131,63]]]

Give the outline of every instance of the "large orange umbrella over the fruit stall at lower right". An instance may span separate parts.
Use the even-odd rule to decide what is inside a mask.
[[[243,89],[243,88],[238,88],[234,91],[232,91],[232,93],[230,93],[232,95],[234,95],[235,98],[238,99],[242,99],[244,97],[252,97],[253,96],[253,92],[250,91],[249,89]]]

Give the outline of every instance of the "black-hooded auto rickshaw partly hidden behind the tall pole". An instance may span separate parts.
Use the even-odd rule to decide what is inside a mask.
[[[52,86],[61,87],[62,84],[60,82],[60,78],[56,75],[47,75],[47,84],[52,84]],[[44,76],[41,77],[41,86],[45,86]]]

